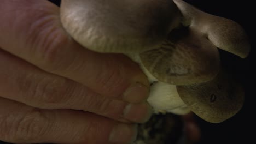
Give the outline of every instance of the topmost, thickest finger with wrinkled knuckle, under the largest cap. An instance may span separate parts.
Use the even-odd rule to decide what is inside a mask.
[[[6,0],[0,13],[0,47],[5,51],[106,97],[131,103],[147,99],[149,83],[138,65],[123,55],[103,55],[75,43],[62,29],[54,4]]]

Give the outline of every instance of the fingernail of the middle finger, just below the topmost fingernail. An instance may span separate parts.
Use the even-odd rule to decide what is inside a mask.
[[[123,112],[123,117],[132,122],[144,123],[149,120],[152,113],[153,109],[147,102],[127,104]]]

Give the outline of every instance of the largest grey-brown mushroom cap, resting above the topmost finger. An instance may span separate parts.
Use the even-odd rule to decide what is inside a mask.
[[[180,23],[173,1],[75,0],[61,2],[66,31],[97,52],[140,52],[159,45]]]

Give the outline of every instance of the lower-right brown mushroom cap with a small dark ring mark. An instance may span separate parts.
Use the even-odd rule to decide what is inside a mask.
[[[224,71],[205,83],[177,86],[177,91],[191,111],[211,123],[234,116],[245,99],[242,86]]]

